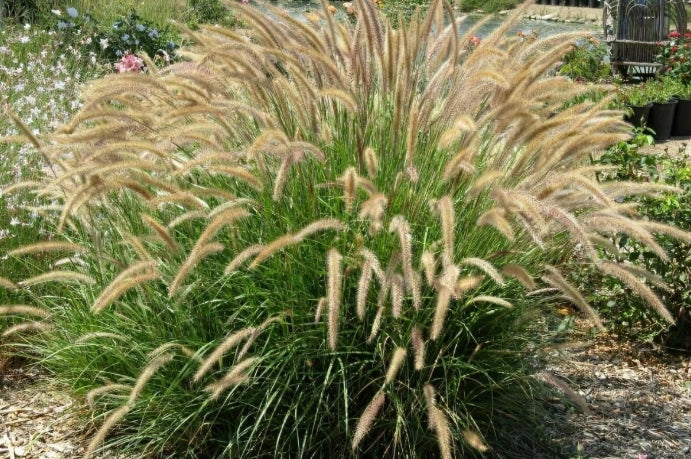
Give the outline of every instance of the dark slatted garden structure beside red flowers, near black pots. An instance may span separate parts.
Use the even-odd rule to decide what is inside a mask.
[[[615,72],[651,75],[660,43],[672,30],[686,32],[683,0],[605,0],[602,24]]]

